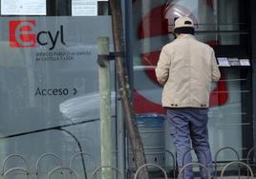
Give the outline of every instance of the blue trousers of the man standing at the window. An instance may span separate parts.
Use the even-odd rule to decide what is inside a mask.
[[[177,151],[179,170],[185,164],[192,162],[192,148],[195,150],[199,163],[209,169],[211,178],[214,178],[212,156],[208,142],[208,109],[181,108],[167,109],[167,119],[170,134],[174,138]],[[184,179],[193,179],[192,166],[183,170]],[[201,169],[201,178],[207,178],[205,169]]]

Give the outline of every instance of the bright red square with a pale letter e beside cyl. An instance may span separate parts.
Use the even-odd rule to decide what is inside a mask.
[[[32,33],[35,21],[10,21],[11,48],[32,48],[36,45],[36,34]]]

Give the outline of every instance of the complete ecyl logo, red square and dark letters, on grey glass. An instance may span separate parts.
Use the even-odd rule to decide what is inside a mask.
[[[35,33],[35,20],[10,21],[9,27],[11,48],[34,48],[39,44],[49,46],[49,50],[53,50],[58,41],[66,45],[62,25],[55,32],[42,30],[37,33]]]

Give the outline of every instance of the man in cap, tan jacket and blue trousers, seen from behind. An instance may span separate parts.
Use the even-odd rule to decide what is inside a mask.
[[[214,176],[208,142],[208,107],[211,82],[221,77],[214,50],[194,37],[194,23],[189,17],[175,21],[176,39],[160,52],[156,75],[163,86],[162,106],[166,108],[170,133],[177,150],[179,169],[192,162],[195,150],[200,163]],[[185,155],[184,155],[185,154]],[[192,168],[184,170],[184,178],[192,179]],[[205,177],[205,169],[201,170]]]

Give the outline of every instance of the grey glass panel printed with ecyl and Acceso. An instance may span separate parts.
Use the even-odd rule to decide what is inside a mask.
[[[0,158],[3,162],[9,154],[20,154],[35,173],[36,161],[45,153],[56,154],[68,167],[75,153],[85,152],[83,157],[75,156],[72,169],[79,177],[86,169],[89,177],[100,166],[96,42],[98,36],[108,36],[112,49],[111,18],[68,16],[68,3],[53,6],[60,2],[64,1],[48,4],[52,9],[47,16],[0,17]],[[113,65],[111,88],[111,131],[116,139]],[[27,169],[15,159],[8,161],[6,169]],[[47,178],[51,169],[61,165],[47,156],[38,166],[39,177]]]

